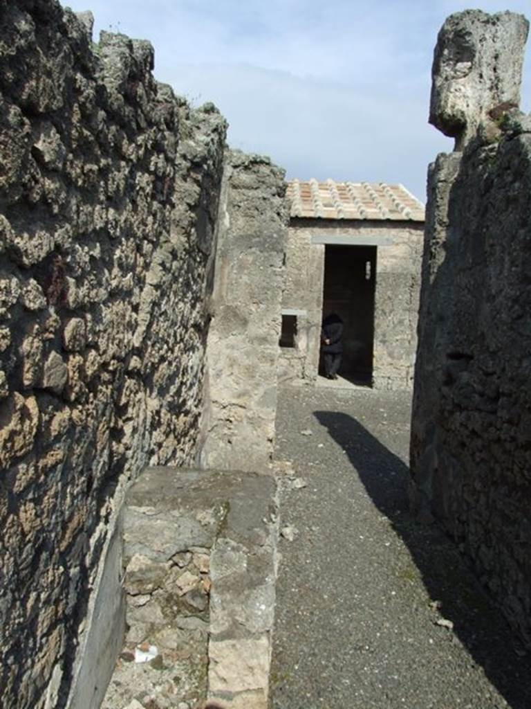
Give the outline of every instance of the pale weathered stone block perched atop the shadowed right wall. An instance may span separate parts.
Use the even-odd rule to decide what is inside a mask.
[[[456,139],[456,150],[479,126],[496,135],[503,113],[520,104],[529,24],[510,12],[466,10],[442,26],[433,59],[430,123]]]

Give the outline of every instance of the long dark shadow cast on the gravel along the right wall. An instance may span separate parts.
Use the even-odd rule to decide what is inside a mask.
[[[476,664],[513,709],[531,707],[531,657],[520,657],[508,625],[491,605],[457,547],[435,523],[420,525],[409,513],[404,462],[346,413],[315,411],[316,419],[348,452],[350,463],[377,508],[404,540],[440,614]],[[399,479],[399,484],[397,484]]]

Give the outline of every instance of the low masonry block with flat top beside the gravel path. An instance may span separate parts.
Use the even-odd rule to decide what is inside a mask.
[[[103,709],[266,709],[275,479],[147,469],[127,494],[127,637]]]

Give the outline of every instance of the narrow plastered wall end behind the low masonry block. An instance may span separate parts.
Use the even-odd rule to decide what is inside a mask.
[[[284,195],[284,172],[268,158],[229,152],[207,345],[206,468],[262,471],[273,454]]]

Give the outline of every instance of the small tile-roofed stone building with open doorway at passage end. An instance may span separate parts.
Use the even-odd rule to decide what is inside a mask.
[[[343,319],[340,376],[410,387],[416,352],[424,208],[401,185],[288,185],[280,381],[316,384],[321,322]]]

